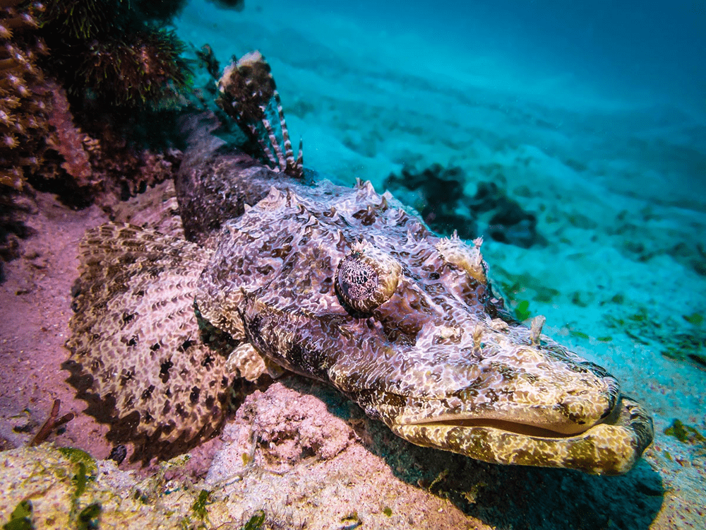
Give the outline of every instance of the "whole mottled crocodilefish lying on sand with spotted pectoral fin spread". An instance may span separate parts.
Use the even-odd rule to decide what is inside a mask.
[[[542,335],[543,319],[504,312],[479,240],[437,237],[369,183],[306,185],[284,167],[202,139],[175,182],[190,242],[89,232],[68,346],[112,420],[160,443],[215,432],[234,375],[225,344],[333,384],[415,444],[589,473],[635,465],[647,413]]]

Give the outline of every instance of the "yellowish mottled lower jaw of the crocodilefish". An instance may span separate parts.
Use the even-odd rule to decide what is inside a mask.
[[[414,444],[481,461],[578,469],[597,475],[632,469],[654,436],[647,411],[628,396],[620,396],[608,416],[572,434],[493,418],[426,418],[392,423],[390,428]]]

